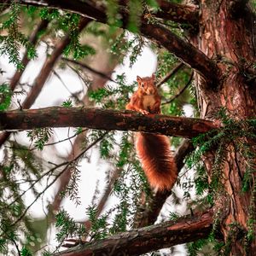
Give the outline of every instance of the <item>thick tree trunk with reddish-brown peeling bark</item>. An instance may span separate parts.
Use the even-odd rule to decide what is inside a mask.
[[[242,6],[242,9],[238,10],[239,13],[236,13],[235,2],[240,2],[239,6]],[[197,44],[195,46],[209,58],[217,60],[221,70],[221,76],[215,87],[209,88],[204,80],[197,77],[201,118],[213,119],[214,114],[223,107],[232,119],[255,118],[256,97],[253,92],[255,87],[253,88],[253,84],[250,84],[246,76],[248,68],[252,67],[253,61],[255,62],[255,48],[253,48],[255,20],[246,2],[201,0],[201,26],[197,37],[200,39],[198,42],[194,40]],[[218,197],[218,201],[216,199],[215,205],[215,214],[221,212],[221,219],[218,220],[226,246],[231,241],[230,247],[226,247],[225,252],[230,255],[255,255],[255,237],[249,245],[246,239],[248,221],[252,218],[252,212],[249,211],[252,207],[255,209],[255,199],[253,201],[253,192],[241,192],[246,164],[232,145],[226,146],[228,153],[225,156],[224,169],[221,171],[224,193]],[[213,160],[214,157],[212,160],[210,158],[206,160],[210,179]],[[251,189],[253,191],[253,185]],[[255,219],[256,213],[253,214]]]

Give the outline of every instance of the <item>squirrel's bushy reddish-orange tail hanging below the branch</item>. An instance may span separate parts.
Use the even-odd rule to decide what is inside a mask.
[[[172,189],[177,180],[177,166],[169,138],[138,132],[136,150],[150,185],[159,190]]]

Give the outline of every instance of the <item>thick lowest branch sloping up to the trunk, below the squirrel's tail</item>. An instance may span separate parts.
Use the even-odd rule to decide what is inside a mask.
[[[73,247],[55,256],[141,255],[205,238],[212,230],[212,211],[186,216],[138,230],[131,230]]]

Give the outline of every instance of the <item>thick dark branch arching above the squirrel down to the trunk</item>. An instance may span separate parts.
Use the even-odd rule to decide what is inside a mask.
[[[9,0],[8,0],[9,1]],[[0,0],[0,3],[3,2]],[[4,1],[5,2],[5,1]],[[67,9],[78,13],[79,15],[89,16],[102,23],[107,23],[107,15],[104,9],[95,7],[93,3],[90,2],[80,2],[79,0],[66,0],[66,1],[56,1],[56,0],[20,0],[20,3],[30,4],[36,6],[46,6],[49,8],[60,8]],[[128,22],[129,14],[122,10],[123,26],[125,27]],[[159,24],[148,23],[148,20],[141,19],[141,32],[143,36],[151,39],[156,44],[160,44],[177,57],[181,58],[189,67],[195,69],[197,73],[200,73],[201,77],[206,79],[207,86],[217,87],[218,84],[218,67],[214,61],[209,59],[201,50],[195,48],[193,44],[185,42],[183,39],[178,38],[176,34],[168,30],[165,26],[160,26]]]

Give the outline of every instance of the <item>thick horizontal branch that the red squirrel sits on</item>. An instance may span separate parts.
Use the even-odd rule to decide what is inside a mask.
[[[218,128],[206,119],[143,115],[134,111],[100,108],[39,108],[0,113],[0,129],[31,130],[43,127],[86,127],[99,130],[145,131],[176,137],[196,137]]]

